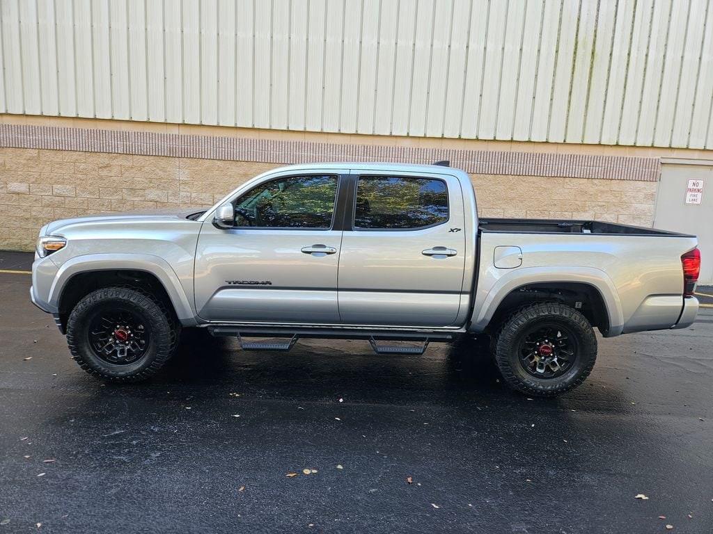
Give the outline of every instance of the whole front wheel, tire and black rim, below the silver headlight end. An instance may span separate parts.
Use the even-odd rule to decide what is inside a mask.
[[[74,360],[90,375],[138,382],[155,374],[173,354],[178,328],[158,299],[125,287],[89,293],[67,321]]]

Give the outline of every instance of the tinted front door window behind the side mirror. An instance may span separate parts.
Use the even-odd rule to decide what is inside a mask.
[[[336,176],[265,182],[235,201],[235,226],[327,229],[332,226],[336,197]]]

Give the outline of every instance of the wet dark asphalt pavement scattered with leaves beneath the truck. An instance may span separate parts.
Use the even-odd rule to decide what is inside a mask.
[[[284,354],[195,332],[115,386],[31,305],[29,261],[0,253],[0,534],[713,531],[713,308],[600,338],[553,400],[508,391],[468,342]]]

